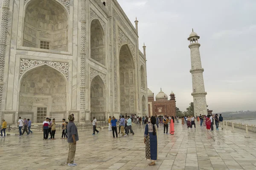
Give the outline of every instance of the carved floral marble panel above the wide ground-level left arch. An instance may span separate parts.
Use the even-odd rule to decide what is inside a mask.
[[[29,68],[35,67],[37,65],[51,65],[61,71],[65,77],[68,79],[68,63],[67,62],[52,62],[45,60],[35,60],[35,59],[20,59],[20,76]]]

